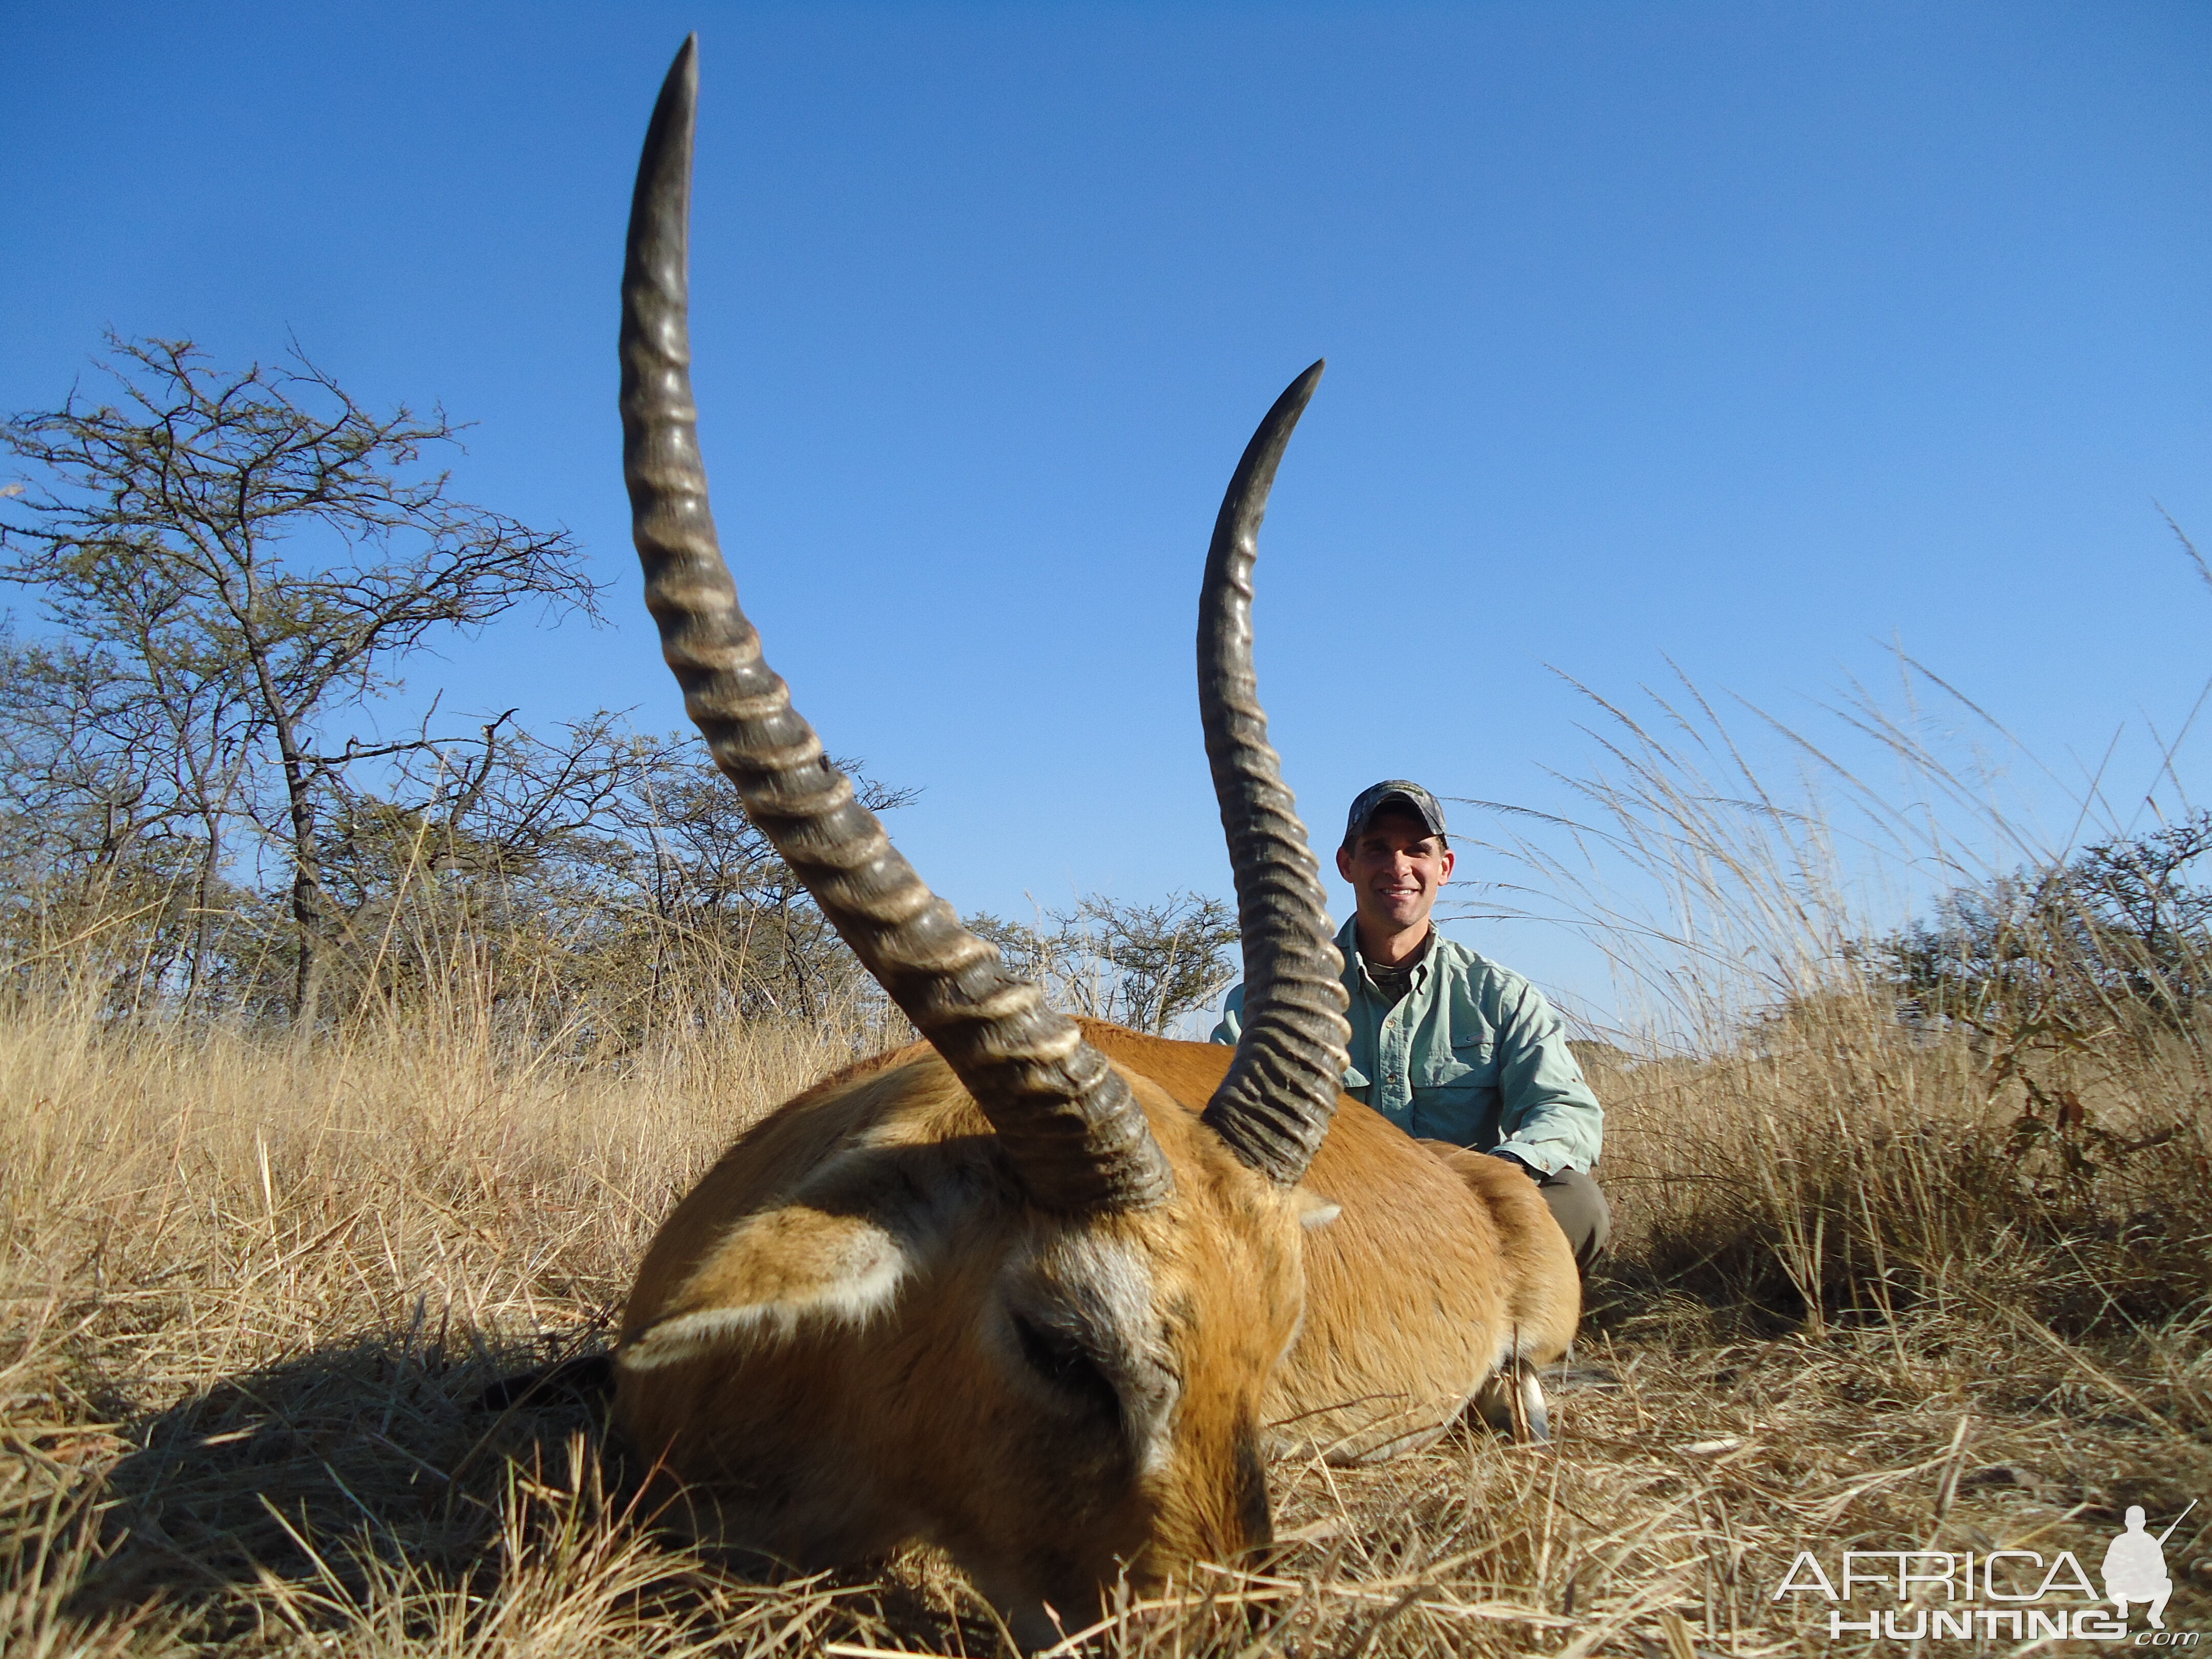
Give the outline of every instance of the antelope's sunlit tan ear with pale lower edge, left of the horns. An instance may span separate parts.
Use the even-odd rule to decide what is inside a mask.
[[[907,1274],[900,1241],[867,1217],[807,1203],[763,1210],[708,1252],[657,1321],[624,1338],[617,1363],[650,1371],[783,1340],[805,1321],[865,1325],[891,1307]]]

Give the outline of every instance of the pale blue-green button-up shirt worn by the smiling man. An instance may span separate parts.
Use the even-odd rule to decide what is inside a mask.
[[[1420,1139],[1511,1152],[1544,1175],[1597,1168],[1606,1113],[1542,991],[1436,933],[1391,1006],[1367,975],[1354,922],[1336,949],[1352,993],[1347,1095]],[[1241,984],[1221,1004],[1214,1042],[1234,1046],[1239,1031]]]

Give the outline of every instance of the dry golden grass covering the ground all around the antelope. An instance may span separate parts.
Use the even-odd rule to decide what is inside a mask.
[[[0,1035],[0,1641],[15,1655],[993,1652],[927,1553],[759,1584],[624,1509],[584,1405],[484,1416],[602,1338],[670,1199],[836,1031],[586,1064],[467,1024],[279,1046],[24,1004]],[[2068,1188],[1971,1055],[1832,1006],[1604,1079],[1621,1248],[1559,1440],[1279,1467],[1267,1573],[1106,1652],[1796,1652],[1798,1548],[2075,1548],[2212,1498],[2203,1099]],[[2212,1544],[2168,1624],[2212,1621]],[[2033,1540],[2033,1542],[2031,1542]],[[2190,1542],[2197,1540],[2197,1542]],[[2194,1564],[2194,1566],[2192,1566]],[[1688,1644],[1688,1648],[1683,1646]],[[1849,1646],[1849,1644],[1843,1644]]]

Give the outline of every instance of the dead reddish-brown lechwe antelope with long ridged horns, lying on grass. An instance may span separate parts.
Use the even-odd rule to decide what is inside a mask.
[[[615,1418],[701,1535],[814,1568],[933,1540],[1024,1641],[1126,1571],[1270,1537],[1263,1449],[1365,1460],[1531,1367],[1579,1312],[1535,1183],[1338,1095],[1338,956],[1252,681],[1261,513],[1321,365],[1214,524],[1199,710],[1243,920],[1225,1048],[1079,1024],[1009,978],[854,801],[714,544],[686,323],[695,46],[661,88],[622,279],[646,602],[745,810],[925,1042],[750,1128],[646,1252]]]

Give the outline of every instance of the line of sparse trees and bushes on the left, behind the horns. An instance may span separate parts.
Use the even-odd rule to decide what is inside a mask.
[[[456,495],[442,409],[294,352],[108,341],[106,396],[13,416],[0,580],[0,960],[115,1011],[316,1026],[467,987],[502,1024],[896,1020],[690,734],[599,710],[380,726],[403,670],[538,608],[595,622],[564,529]],[[911,787],[867,779],[891,812]],[[1232,973],[1194,894],[978,918],[1079,1011],[1168,1029]]]

